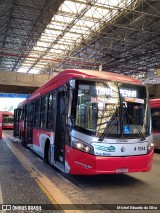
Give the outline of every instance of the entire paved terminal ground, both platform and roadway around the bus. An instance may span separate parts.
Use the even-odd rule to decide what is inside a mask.
[[[159,165],[160,152],[154,154],[150,172],[67,175],[48,166],[23,147],[18,139],[12,137],[12,131],[3,131],[0,140],[0,203],[36,204],[45,208],[44,212],[52,209],[50,212],[53,213],[122,213],[124,210],[125,213],[150,213],[156,208],[158,213]],[[59,206],[61,209],[57,209]],[[127,209],[141,206],[143,209]]]

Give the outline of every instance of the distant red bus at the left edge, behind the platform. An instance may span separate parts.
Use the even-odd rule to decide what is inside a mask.
[[[0,116],[2,116],[2,129],[13,129],[14,126],[14,113],[1,111]]]

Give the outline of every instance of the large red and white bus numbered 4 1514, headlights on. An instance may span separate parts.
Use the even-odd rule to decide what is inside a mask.
[[[14,136],[69,174],[151,170],[150,103],[139,80],[65,70],[15,109]]]

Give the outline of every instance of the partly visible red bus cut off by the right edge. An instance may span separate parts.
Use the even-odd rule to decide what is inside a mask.
[[[160,149],[160,98],[151,99],[152,133],[155,149]]]

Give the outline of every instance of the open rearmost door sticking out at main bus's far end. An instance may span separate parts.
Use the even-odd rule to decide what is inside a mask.
[[[13,131],[13,135],[14,137],[19,137],[20,136],[20,116],[22,113],[22,109],[15,109],[14,110],[14,131]]]

